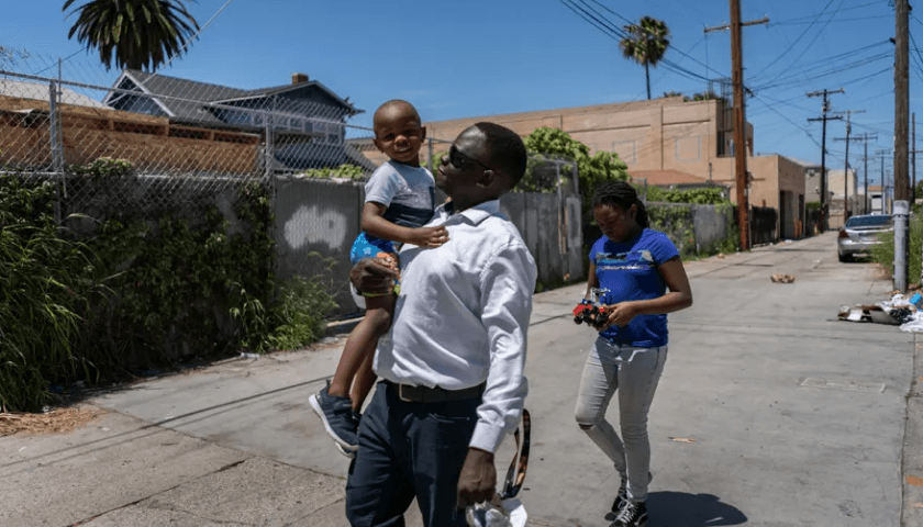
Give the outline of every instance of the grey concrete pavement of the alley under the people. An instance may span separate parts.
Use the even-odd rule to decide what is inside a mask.
[[[652,526],[923,526],[914,335],[836,321],[890,281],[838,262],[833,235],[686,266],[696,303],[669,317],[650,412]],[[582,290],[535,298],[530,525],[609,525],[619,483],[572,418],[593,341],[569,316]],[[109,413],[85,428],[0,438],[0,526],[345,525],[348,463],[305,404],[342,345],[100,393]]]

